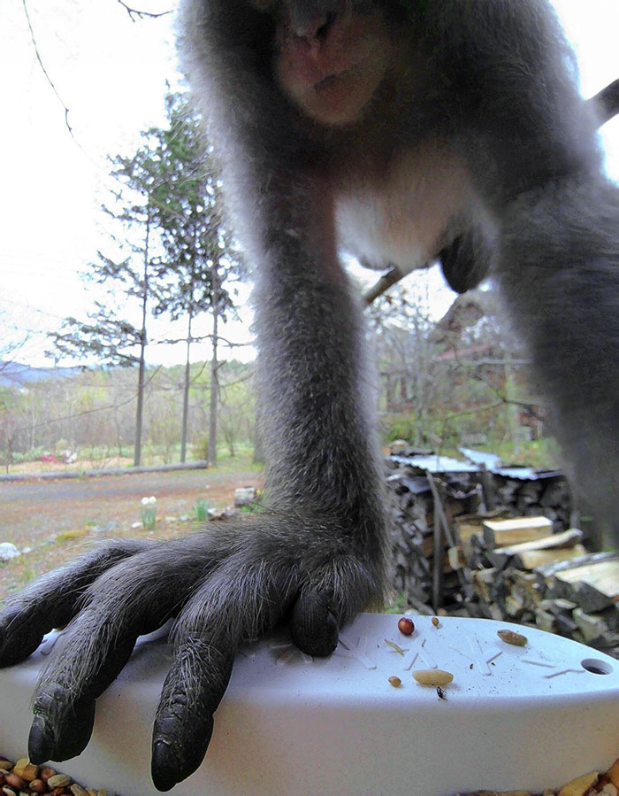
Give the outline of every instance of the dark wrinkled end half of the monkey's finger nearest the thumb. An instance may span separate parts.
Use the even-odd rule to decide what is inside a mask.
[[[180,646],[153,728],[151,775],[158,791],[169,791],[203,761],[233,661],[232,650],[221,652],[203,638]]]

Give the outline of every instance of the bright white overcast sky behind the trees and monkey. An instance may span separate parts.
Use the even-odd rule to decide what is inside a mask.
[[[149,12],[173,0],[133,0]],[[585,97],[619,77],[619,0],[555,0],[580,62]],[[172,16],[132,22],[117,0],[27,0],[45,80],[22,0],[0,4],[0,335],[13,323],[34,331],[15,359],[42,358],[41,333],[67,314],[85,316],[91,295],[78,276],[104,245],[98,223],[108,154],[131,154],[141,129],[164,120],[165,81],[177,85]],[[65,126],[65,110],[77,142]],[[608,172],[619,181],[619,119],[603,128]],[[427,280],[427,276],[423,277]],[[449,304],[431,274],[437,306]],[[4,325],[4,328],[3,328]],[[38,333],[38,334],[36,334]],[[167,334],[167,330],[165,332]],[[226,336],[241,338],[238,328]],[[248,339],[248,333],[244,333]],[[195,358],[208,355],[195,347]],[[180,350],[149,350],[150,362],[180,361]]]

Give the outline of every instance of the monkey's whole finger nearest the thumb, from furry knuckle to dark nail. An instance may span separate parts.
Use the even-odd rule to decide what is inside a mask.
[[[177,654],[153,729],[158,790],[170,790],[198,768],[241,639],[270,630],[297,591],[289,564],[268,566],[262,546],[249,540],[187,600],[172,632]]]

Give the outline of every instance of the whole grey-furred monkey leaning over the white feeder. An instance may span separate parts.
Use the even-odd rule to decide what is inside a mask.
[[[179,14],[254,268],[271,504],[216,533],[109,541],[0,616],[4,666],[68,625],[34,696],[34,762],[85,748],[138,635],[173,619],[160,791],[203,761],[243,638],[286,623],[325,656],[384,596],[371,356],[340,251],[403,273],[439,255],[456,290],[490,275],[575,483],[609,523],[619,495],[619,192],[549,0],[181,0]]]

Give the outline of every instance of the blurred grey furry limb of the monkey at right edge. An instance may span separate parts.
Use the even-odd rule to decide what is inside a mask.
[[[508,206],[497,273],[573,482],[619,541],[619,190],[563,178]]]

